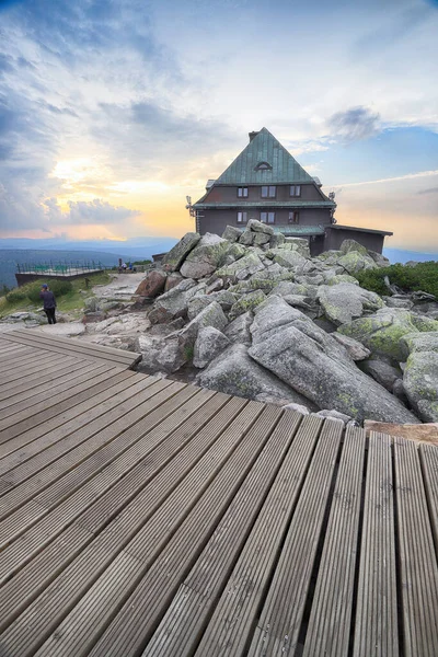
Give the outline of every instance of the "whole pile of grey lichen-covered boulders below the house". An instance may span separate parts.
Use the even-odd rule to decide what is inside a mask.
[[[311,257],[307,240],[255,220],[172,251],[140,288],[165,290],[137,341],[145,371],[197,368],[201,385],[335,422],[437,417],[438,303],[360,287],[355,274],[388,264],[379,254],[346,241]]]

